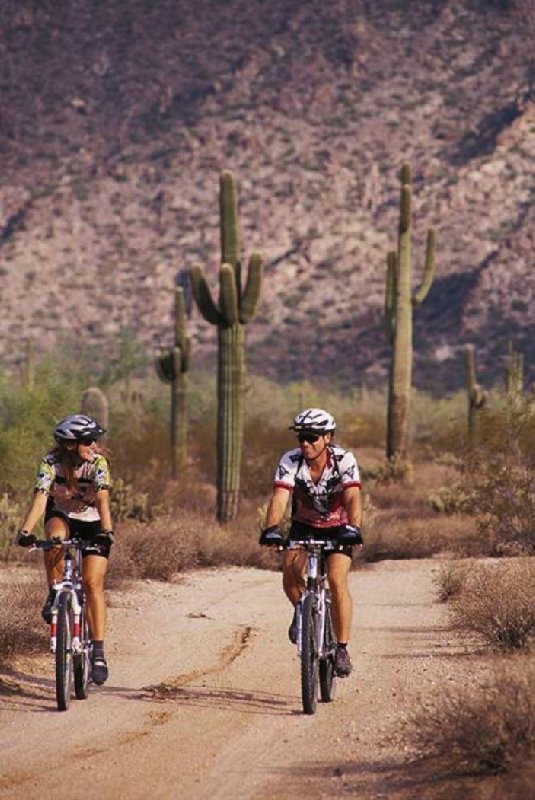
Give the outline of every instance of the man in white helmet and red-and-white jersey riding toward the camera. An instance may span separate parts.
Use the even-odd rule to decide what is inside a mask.
[[[291,495],[288,540],[328,537],[340,545],[341,550],[326,556],[338,641],[335,672],[345,677],[352,669],[347,651],[353,615],[348,576],[353,548],[362,545],[362,504],[355,456],[333,443],[335,429],[333,417],[321,408],[307,408],[296,416],[290,430],[297,434],[298,447],[284,453],[279,461],[260,544],[280,545],[284,542],[279,526]],[[294,607],[300,602],[305,588],[305,569],[306,553],[299,549],[286,550],[283,589]],[[295,611],[288,635],[295,643]]]

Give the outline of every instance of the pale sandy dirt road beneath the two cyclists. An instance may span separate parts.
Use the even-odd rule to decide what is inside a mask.
[[[463,668],[434,602],[436,569],[383,562],[352,573],[355,670],[314,716],[301,711],[279,574],[207,570],[110,593],[105,686],[60,713],[51,656],[9,676],[0,797],[414,797],[403,748],[384,734]],[[418,796],[437,795],[419,785]]]

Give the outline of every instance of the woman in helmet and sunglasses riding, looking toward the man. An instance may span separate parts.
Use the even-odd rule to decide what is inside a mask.
[[[105,432],[85,414],[72,414],[58,423],[54,430],[56,447],[41,461],[33,501],[17,537],[21,547],[30,547],[36,541],[32,530],[44,515],[47,539],[77,536],[87,541],[89,548],[83,551],[82,577],[92,638],[91,677],[99,685],[108,678],[104,657],[104,579],[113,544],[110,472],[97,446]],[[55,597],[53,584],[63,574],[63,551],[49,550],[44,553],[44,560],[49,591],[42,616],[50,623]]]

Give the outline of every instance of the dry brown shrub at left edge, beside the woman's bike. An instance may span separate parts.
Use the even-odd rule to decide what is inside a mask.
[[[10,577],[0,582],[0,664],[14,654],[42,650],[46,646],[46,627],[41,619],[45,596],[44,580]]]

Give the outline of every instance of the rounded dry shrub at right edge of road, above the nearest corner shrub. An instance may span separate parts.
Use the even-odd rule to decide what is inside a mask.
[[[478,564],[451,606],[453,622],[501,649],[524,647],[535,633],[535,563]]]

